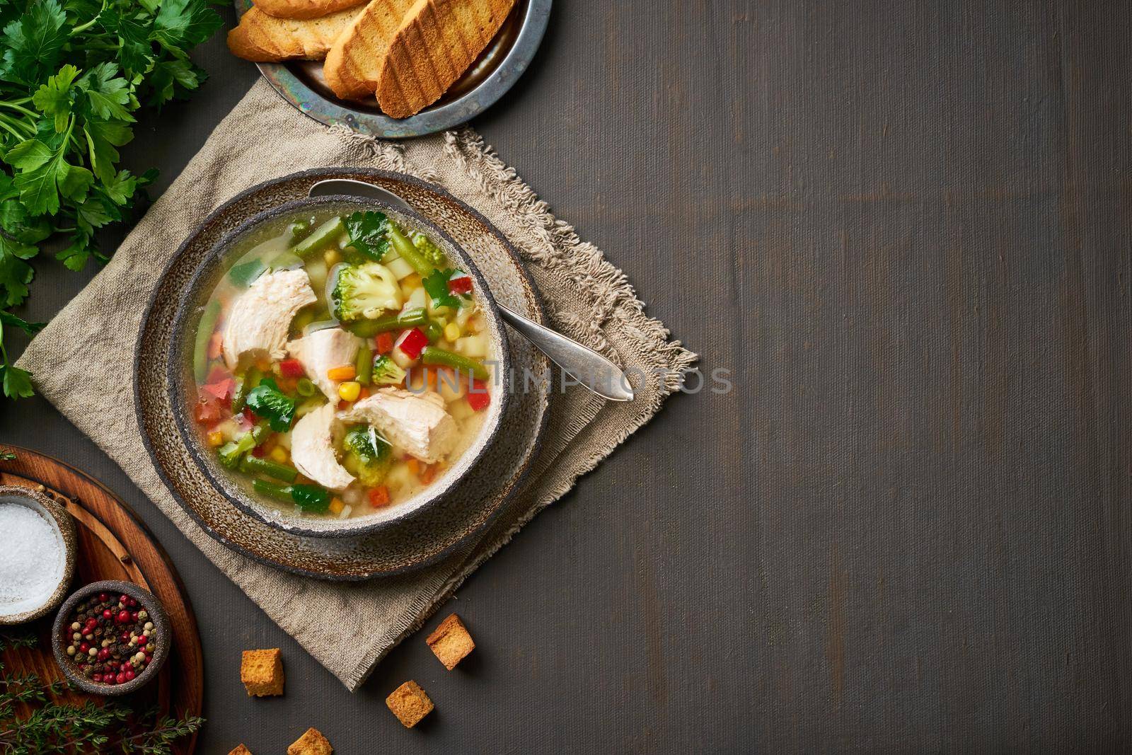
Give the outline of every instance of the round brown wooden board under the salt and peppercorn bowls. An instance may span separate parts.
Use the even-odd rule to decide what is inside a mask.
[[[138,711],[154,705],[162,714],[200,715],[204,697],[204,655],[192,607],[169,556],[142,520],[105,486],[84,472],[50,456],[16,446],[0,447],[16,453],[16,461],[0,461],[0,483],[40,488],[67,507],[75,520],[78,554],[75,561],[75,590],[98,580],[125,580],[155,594],[169,614],[173,643],[169,660],[157,679],[134,693],[129,700]],[[35,674],[44,681],[63,679],[51,654],[50,634],[54,612],[18,627],[0,627],[0,633],[22,636],[34,629],[36,647],[0,652],[5,674]],[[67,690],[62,700],[80,703],[101,697]],[[23,718],[27,711],[20,711]],[[174,752],[191,753],[196,736],[185,737]]]

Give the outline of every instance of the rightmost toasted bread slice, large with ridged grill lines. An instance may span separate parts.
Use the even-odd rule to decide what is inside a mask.
[[[418,0],[377,75],[377,102],[408,118],[440,98],[488,46],[515,0]]]

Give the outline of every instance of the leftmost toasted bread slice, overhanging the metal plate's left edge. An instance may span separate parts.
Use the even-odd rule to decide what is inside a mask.
[[[321,18],[276,18],[251,7],[228,33],[232,54],[256,62],[321,60],[361,7],[346,8]]]

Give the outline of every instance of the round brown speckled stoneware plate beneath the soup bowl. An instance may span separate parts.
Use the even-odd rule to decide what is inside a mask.
[[[369,181],[404,198],[469,254],[497,301],[535,321],[544,315],[518,254],[478,212],[444,189],[401,173],[318,169],[255,186],[215,209],[181,244],[154,289],[135,357],[135,409],[146,448],[165,486],[204,530],[249,558],[327,580],[365,580],[435,563],[490,523],[529,471],[546,424],[549,363],[522,338],[509,338],[515,389],[501,430],[477,464],[475,495],[446,497],[395,526],[362,537],[308,538],[240,511],[211,483],[177,430],[166,364],[174,314],[200,260],[225,233],[258,213],[307,196],[317,181]],[[489,482],[486,482],[488,481]]]

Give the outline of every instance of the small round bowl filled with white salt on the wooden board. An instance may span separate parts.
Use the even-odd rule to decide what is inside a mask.
[[[0,486],[0,625],[54,609],[75,574],[75,523],[48,496]]]

